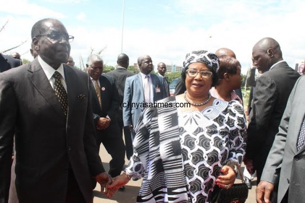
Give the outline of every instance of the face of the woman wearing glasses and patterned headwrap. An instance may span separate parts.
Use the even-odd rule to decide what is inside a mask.
[[[190,64],[188,69],[198,72],[210,71],[210,69],[205,64],[200,62]],[[206,78],[202,77],[200,73],[198,73],[195,77],[190,77],[188,73],[186,74],[186,88],[188,94],[197,98],[206,97],[212,86],[213,75],[209,78]]]

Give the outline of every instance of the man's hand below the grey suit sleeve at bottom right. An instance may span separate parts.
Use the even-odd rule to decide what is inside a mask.
[[[256,188],[256,201],[258,203],[269,203],[270,195],[275,186],[267,181],[259,182]]]

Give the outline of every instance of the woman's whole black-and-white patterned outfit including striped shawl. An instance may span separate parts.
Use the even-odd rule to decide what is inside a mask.
[[[134,155],[126,172],[144,178],[137,202],[209,202],[228,160],[241,164],[246,119],[237,101],[219,99],[201,112],[146,108],[136,125]]]

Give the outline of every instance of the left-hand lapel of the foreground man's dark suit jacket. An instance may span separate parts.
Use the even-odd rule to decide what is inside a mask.
[[[54,90],[40,66],[38,59],[31,63],[28,68],[28,78],[32,81],[37,91],[45,98],[45,100],[54,108],[57,114],[62,115],[65,119],[65,115],[57,97],[54,94]]]

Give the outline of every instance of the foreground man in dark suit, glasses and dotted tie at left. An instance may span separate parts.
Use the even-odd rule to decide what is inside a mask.
[[[98,154],[86,73],[63,65],[70,54],[62,22],[32,28],[39,56],[0,74],[0,201],[4,201],[16,149],[19,202],[93,202],[92,178],[107,188],[111,177]]]

